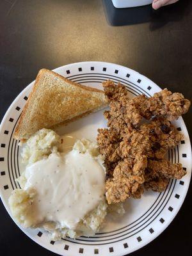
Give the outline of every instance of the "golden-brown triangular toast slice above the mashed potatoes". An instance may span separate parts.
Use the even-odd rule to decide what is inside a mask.
[[[47,69],[36,77],[15,129],[15,138],[28,139],[42,128],[68,123],[104,108],[107,99],[102,90],[74,83]]]

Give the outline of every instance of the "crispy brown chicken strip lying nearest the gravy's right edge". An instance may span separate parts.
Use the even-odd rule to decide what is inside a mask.
[[[106,182],[106,198],[109,204],[123,202],[130,196],[138,198],[143,193],[143,189],[140,189],[140,195],[136,192],[145,181],[147,150],[150,150],[147,136],[137,131],[124,136],[119,152],[122,159],[115,167],[113,178]]]

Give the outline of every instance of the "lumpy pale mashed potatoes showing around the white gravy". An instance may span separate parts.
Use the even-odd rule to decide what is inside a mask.
[[[22,150],[22,159],[24,163],[30,165],[41,159],[45,159],[51,153],[59,153],[61,138],[56,132],[42,129],[36,132],[26,142]],[[79,151],[81,154],[90,154],[93,157],[97,157],[100,163],[104,162],[104,157],[99,155],[97,143],[93,143],[89,140],[77,140],[74,145],[74,150]],[[60,223],[56,221],[42,221],[42,223],[36,222],[35,209],[33,209],[33,203],[35,202],[36,191],[35,189],[24,189],[27,179],[25,172],[18,179],[21,189],[15,189],[9,198],[10,208],[15,220],[21,223],[24,227],[40,227],[45,228],[52,235],[52,239],[58,240],[61,237],[69,236],[75,238],[77,236],[90,236],[95,234],[101,227],[104,218],[108,212],[108,204],[106,199],[100,200],[100,203],[84,216],[79,221],[75,230],[68,227],[61,227]],[[118,212],[118,214],[124,213],[122,204],[118,204],[116,207],[109,207],[109,211]]]

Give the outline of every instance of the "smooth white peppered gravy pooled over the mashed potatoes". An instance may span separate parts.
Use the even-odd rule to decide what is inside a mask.
[[[74,229],[103,199],[104,168],[90,154],[52,153],[27,166],[25,175],[24,189],[37,192],[33,204],[39,223],[57,221],[61,227]]]

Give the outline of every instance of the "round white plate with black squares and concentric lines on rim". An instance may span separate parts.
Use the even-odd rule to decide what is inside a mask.
[[[161,90],[159,86],[138,72],[111,63],[81,62],[56,68],[54,71],[72,81],[97,88],[100,88],[100,83],[107,79],[120,81],[127,86],[130,97],[141,93],[150,96]],[[1,199],[10,216],[12,214],[8,206],[8,197],[13,189],[19,187],[15,178],[22,172],[19,159],[20,147],[18,141],[13,138],[13,132],[33,84],[34,82],[29,84],[13,101],[1,123],[0,191]],[[19,225],[20,229],[36,243],[60,255],[125,255],[150,243],[168,227],[179,211],[191,177],[191,146],[188,131],[182,118],[174,124],[179,131],[183,132],[184,140],[178,147],[170,150],[168,157],[172,163],[182,163],[188,173],[181,180],[170,180],[166,191],[145,192],[140,200],[128,200],[125,216],[120,220],[108,218],[104,228],[93,237],[79,237],[76,240],[66,238],[54,243],[42,230],[25,229]],[[67,133],[76,138],[95,140],[97,128],[105,126],[106,120],[102,116],[102,111],[99,111],[58,129],[58,132]]]

